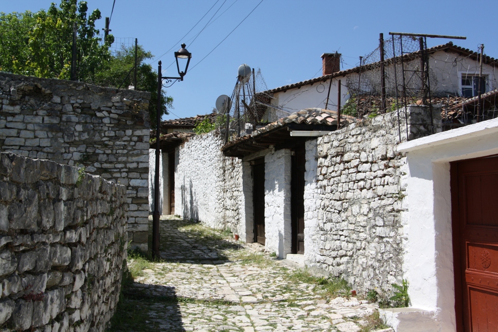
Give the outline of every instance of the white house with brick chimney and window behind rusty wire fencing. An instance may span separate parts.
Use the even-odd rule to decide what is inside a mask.
[[[442,110],[443,114],[446,112],[446,116],[448,116],[447,113],[450,113],[450,118],[453,119],[457,115],[461,115],[463,101],[477,96],[480,55],[454,45],[452,42],[428,48],[427,53],[431,72],[433,104],[446,104],[447,106]],[[420,52],[406,54],[403,58],[406,67],[418,70]],[[310,107],[335,110],[338,103],[339,81],[342,85],[341,105],[344,106],[353,95],[369,94],[373,95],[374,98],[366,107],[372,108],[372,104],[375,105],[375,103],[378,107],[380,105],[378,73],[380,63],[374,62],[340,70],[340,61],[341,54],[324,53],[322,55],[322,76],[262,92],[261,94],[270,97],[270,106],[274,107],[267,108],[265,119],[270,122],[276,120],[282,116],[282,109],[287,110],[288,113]],[[399,84],[402,82],[400,65],[397,65],[397,74],[395,75],[393,63],[392,58],[385,61],[388,107],[395,96],[394,77],[397,77]],[[497,64],[498,60],[486,55],[483,56],[482,93],[488,93],[498,88]],[[357,85],[359,79],[362,81],[361,87]],[[415,77],[410,78],[410,81],[412,82],[410,84],[415,84],[410,88],[419,88],[417,84],[420,84],[420,79]],[[352,88],[353,91],[349,91],[348,88]],[[493,110],[496,108],[484,106],[485,111],[492,111],[486,115],[493,118],[495,116]]]

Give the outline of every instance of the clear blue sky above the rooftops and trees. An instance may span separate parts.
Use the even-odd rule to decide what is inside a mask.
[[[1,0],[0,10],[37,11],[48,9],[51,2],[54,1]],[[232,94],[237,69],[243,63],[260,68],[268,89],[321,76],[323,53],[339,51],[344,60],[341,69],[354,67],[359,64],[359,56],[377,47],[380,32],[384,38],[389,37],[389,31],[466,36],[467,40],[453,42],[475,51],[483,43],[487,55],[498,57],[498,26],[493,10],[496,2],[491,0],[263,0],[258,5],[259,2],[116,0],[110,28],[115,37],[138,38],[138,43],[156,57],[172,48],[160,58],[163,68],[174,61],[173,52],[181,42],[187,44],[192,53],[189,71],[183,82],[167,89],[174,99],[174,109],[164,119],[210,113],[218,96]],[[97,26],[103,28],[104,17],[111,15],[113,0],[88,0],[88,6],[90,10],[101,10]],[[427,43],[435,46],[448,41],[430,38]],[[152,63],[154,68],[157,60]],[[171,66],[163,75],[177,75],[176,67]]]

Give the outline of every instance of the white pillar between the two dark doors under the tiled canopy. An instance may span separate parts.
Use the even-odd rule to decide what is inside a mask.
[[[265,248],[285,258],[291,251],[291,151],[282,149],[264,157]]]

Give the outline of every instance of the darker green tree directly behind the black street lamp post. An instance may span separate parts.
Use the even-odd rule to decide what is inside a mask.
[[[150,92],[149,115],[150,126],[155,128],[157,111],[157,71],[152,66],[144,63],[146,59],[154,56],[143,49],[141,45],[137,47],[137,86],[135,90]],[[111,60],[95,77],[95,84],[105,87],[125,88],[133,85],[133,68],[135,65],[135,47],[123,47],[112,55]],[[166,96],[166,92],[161,90],[161,116],[169,114],[168,109],[173,108],[173,98]]]

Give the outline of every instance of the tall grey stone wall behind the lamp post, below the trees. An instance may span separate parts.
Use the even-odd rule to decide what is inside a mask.
[[[127,187],[131,246],[147,250],[150,94],[0,73],[0,150],[82,165]]]

